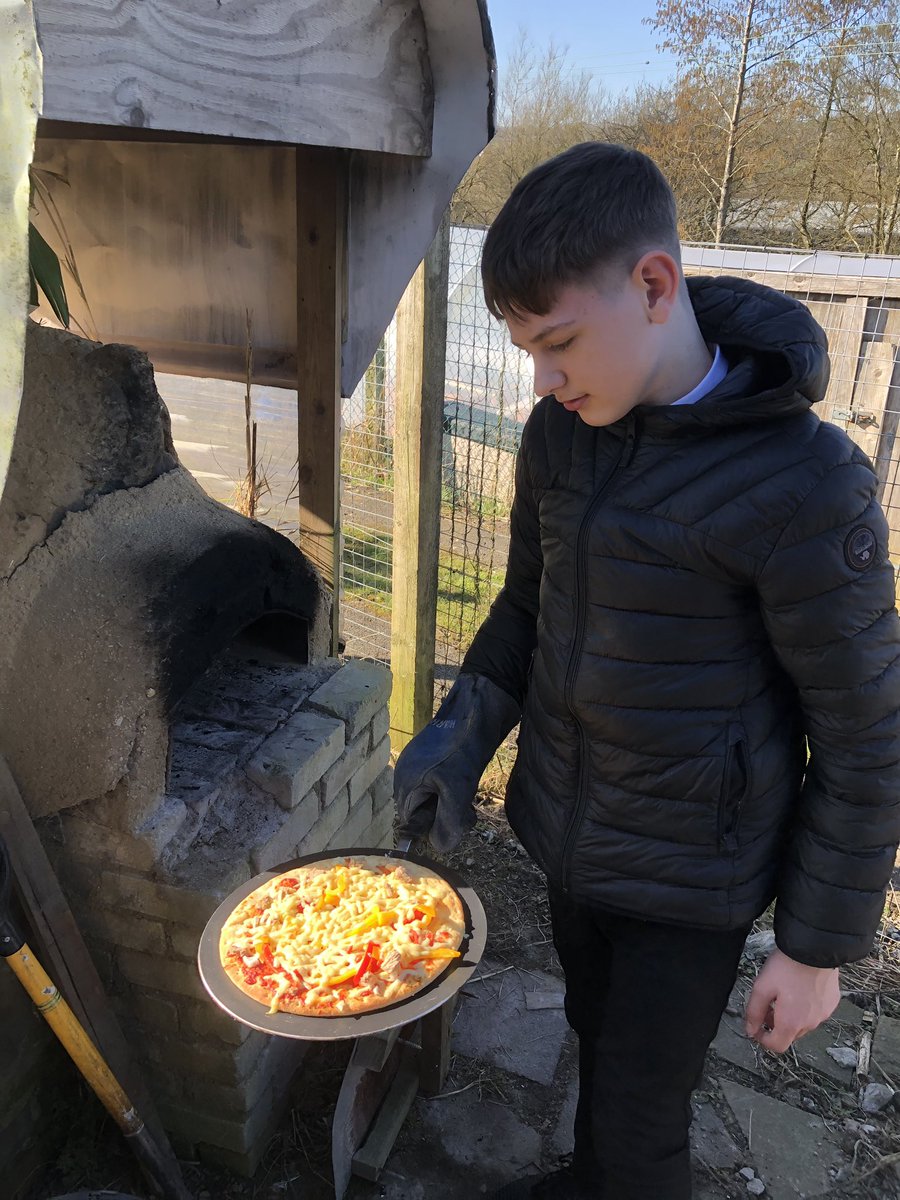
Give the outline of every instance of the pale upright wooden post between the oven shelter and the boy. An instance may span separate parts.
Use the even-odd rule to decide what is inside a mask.
[[[450,226],[445,218],[397,308],[394,426],[391,746],[431,720],[440,544],[440,446]]]

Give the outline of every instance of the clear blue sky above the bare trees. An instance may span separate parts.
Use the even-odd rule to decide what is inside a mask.
[[[568,48],[572,70],[590,72],[613,94],[673,73],[673,59],[659,54],[656,34],[641,23],[655,14],[655,0],[487,0],[487,12],[500,73],[521,29],[539,49]]]

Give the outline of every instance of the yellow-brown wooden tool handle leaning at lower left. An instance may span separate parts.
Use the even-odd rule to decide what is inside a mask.
[[[139,1133],[143,1120],[28,943],[6,961],[122,1133]]]

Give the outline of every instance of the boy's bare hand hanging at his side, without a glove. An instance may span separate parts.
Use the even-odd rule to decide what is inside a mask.
[[[746,1004],[746,1036],[775,1054],[827,1021],[841,998],[836,967],[808,967],[778,948],[756,977]]]

